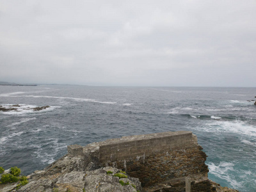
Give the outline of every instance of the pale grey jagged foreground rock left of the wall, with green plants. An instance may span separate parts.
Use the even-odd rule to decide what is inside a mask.
[[[41,171],[28,175],[29,183],[15,189],[17,184],[8,184],[0,191],[140,191],[140,180],[113,167],[96,168],[84,161],[84,157],[64,156]],[[87,162],[87,163],[86,163]],[[117,173],[117,174],[116,174]],[[121,175],[121,178],[118,176]],[[122,178],[122,176],[124,178]]]

